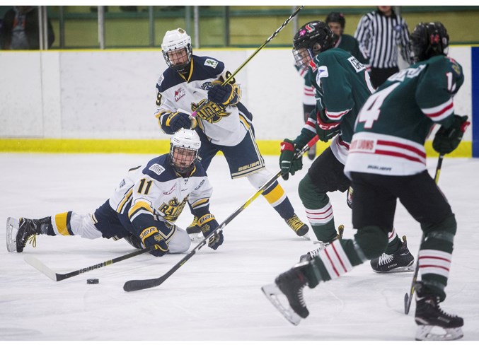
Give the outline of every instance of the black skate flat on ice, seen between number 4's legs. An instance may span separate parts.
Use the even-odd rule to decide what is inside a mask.
[[[414,257],[408,250],[406,237],[403,244],[396,252],[388,255],[383,253],[380,257],[371,260],[371,267],[376,273],[408,272],[414,269]]]

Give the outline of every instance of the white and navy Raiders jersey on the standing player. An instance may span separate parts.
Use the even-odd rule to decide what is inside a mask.
[[[222,146],[236,146],[250,127],[250,112],[241,103],[220,107],[208,100],[212,81],[218,80],[226,72],[224,63],[211,57],[193,55],[191,64],[187,79],[171,68],[166,69],[158,79],[156,117],[161,129],[172,134],[165,126],[165,119],[171,112],[191,114],[202,106],[196,119],[209,141]]]

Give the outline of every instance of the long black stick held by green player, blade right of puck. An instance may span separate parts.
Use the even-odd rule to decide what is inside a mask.
[[[316,141],[318,141],[318,136],[314,136],[313,139],[311,139],[308,144],[304,146],[304,148],[301,149],[298,153],[296,153],[294,158],[298,158],[299,156],[303,155],[308,149],[316,144]],[[278,177],[281,176],[281,170],[279,170],[275,175],[270,177],[270,180],[267,180],[255,194],[253,194],[252,197],[250,197],[248,200],[246,200],[241,206],[236,209],[236,211],[233,212],[226,220],[223,221],[223,223],[219,224],[219,226],[212,231],[209,235],[207,235],[206,238],[204,238],[200,243],[197,244],[196,247],[194,247],[191,252],[189,252],[183,259],[181,259],[178,263],[175,264],[169,271],[166,272],[166,274],[163,274],[163,276],[160,276],[158,278],[153,278],[153,279],[142,279],[142,280],[131,280],[127,281],[125,285],[123,286],[123,290],[130,292],[130,291],[137,291],[137,290],[144,290],[145,288],[154,288],[155,286],[159,286],[163,283],[163,281],[166,281],[168,277],[170,277],[175,271],[177,271],[180,267],[183,266],[193,255],[196,254],[198,250],[200,250],[204,245],[206,245],[212,236],[216,235],[219,233],[219,231],[223,230],[224,227],[229,224],[238,214],[241,213],[246,207],[248,207],[249,204],[251,204],[262,192],[265,191],[268,187],[272,185],[273,182],[275,182]]]

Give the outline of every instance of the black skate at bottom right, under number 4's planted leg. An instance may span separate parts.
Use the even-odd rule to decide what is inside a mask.
[[[461,339],[463,337],[461,329],[464,324],[463,318],[442,311],[441,307],[439,307],[439,298],[437,296],[427,295],[424,292],[425,286],[422,281],[417,281],[415,289],[415,321],[419,326],[416,332],[416,340]],[[441,332],[433,332],[434,330]]]

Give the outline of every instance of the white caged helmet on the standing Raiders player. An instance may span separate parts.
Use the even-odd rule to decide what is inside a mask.
[[[180,73],[188,71],[193,51],[191,47],[191,37],[185,30],[178,28],[166,31],[166,34],[163,37],[163,42],[161,42],[161,51],[163,52],[163,58],[165,59],[166,64],[172,69]],[[184,57],[187,61],[175,64],[171,59],[173,53],[185,54]]]

